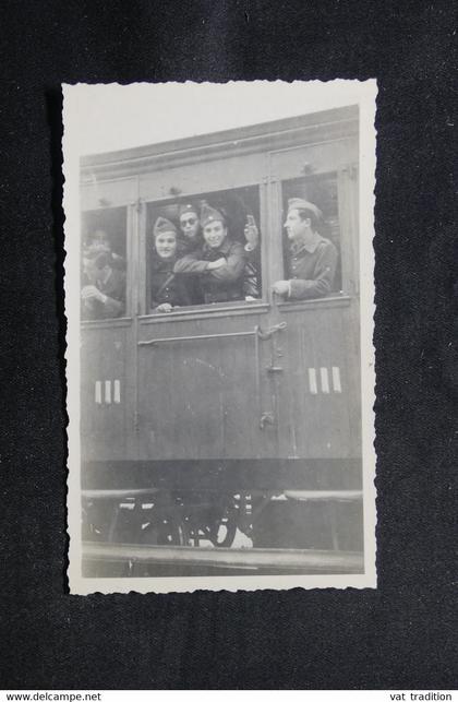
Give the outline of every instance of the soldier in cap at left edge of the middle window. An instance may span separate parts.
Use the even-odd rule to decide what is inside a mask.
[[[173,272],[177,261],[178,231],[169,219],[158,217],[153,234],[150,307],[154,312],[171,312],[176,307],[191,305],[185,279]]]

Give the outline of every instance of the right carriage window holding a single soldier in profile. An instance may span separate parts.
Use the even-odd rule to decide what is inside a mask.
[[[335,174],[286,180],[282,199],[285,289],[278,293],[289,301],[338,293],[342,278]]]

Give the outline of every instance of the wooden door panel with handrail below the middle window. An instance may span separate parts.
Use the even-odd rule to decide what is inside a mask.
[[[249,316],[141,324],[143,341],[176,340],[138,348],[143,459],[276,455],[275,435],[260,428],[270,406],[260,384],[269,349],[256,342],[258,322]],[[225,336],[231,333],[248,335]]]

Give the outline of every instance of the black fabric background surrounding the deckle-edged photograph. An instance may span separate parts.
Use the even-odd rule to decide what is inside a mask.
[[[3,0],[3,689],[457,687],[453,7]],[[60,83],[371,76],[378,588],[70,596]]]

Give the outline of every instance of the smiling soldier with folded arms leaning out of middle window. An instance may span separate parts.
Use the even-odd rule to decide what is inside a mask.
[[[228,236],[225,216],[204,204],[201,211],[204,243],[177,261],[174,272],[200,276],[205,304],[245,298],[249,253]]]

